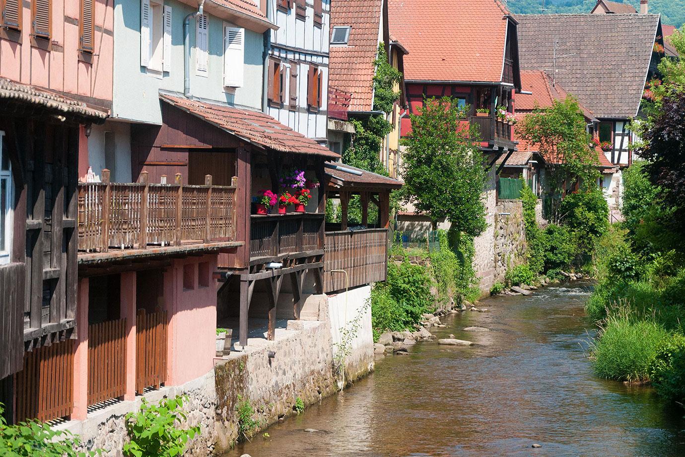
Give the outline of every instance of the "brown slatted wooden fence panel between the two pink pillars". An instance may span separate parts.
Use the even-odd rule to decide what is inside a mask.
[[[126,319],[88,325],[88,405],[126,393]]]

